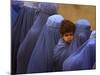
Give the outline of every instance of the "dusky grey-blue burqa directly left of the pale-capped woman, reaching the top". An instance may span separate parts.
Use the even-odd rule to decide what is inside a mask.
[[[17,55],[17,73],[25,73],[30,56],[37,42],[38,36],[49,16],[57,13],[56,5],[52,3],[41,3],[40,13],[34,25],[26,35],[25,40],[19,47]]]

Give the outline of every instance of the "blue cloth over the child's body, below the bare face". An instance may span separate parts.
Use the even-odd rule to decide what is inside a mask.
[[[61,71],[62,70],[62,64],[63,64],[63,56],[67,53],[69,53],[68,48],[69,48],[68,43],[65,43],[63,38],[59,39],[58,44],[54,48],[54,54],[53,54],[53,70],[54,71]],[[66,54],[68,55],[68,54]]]

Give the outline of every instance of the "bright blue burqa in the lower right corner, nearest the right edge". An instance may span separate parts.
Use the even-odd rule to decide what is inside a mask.
[[[90,39],[64,61],[63,70],[71,71],[92,69],[95,62],[96,33],[94,31],[92,32]]]

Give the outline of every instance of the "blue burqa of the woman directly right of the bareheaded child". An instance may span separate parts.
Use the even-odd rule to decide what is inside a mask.
[[[74,40],[72,41],[69,48],[70,54],[76,51],[76,49],[86,42],[91,34],[90,22],[87,19],[79,19],[75,24],[76,31],[74,34]]]

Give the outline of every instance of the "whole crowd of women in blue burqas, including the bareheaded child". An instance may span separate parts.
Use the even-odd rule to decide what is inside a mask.
[[[87,19],[65,20],[54,3],[19,3],[11,5],[12,74],[96,68],[96,31]]]

